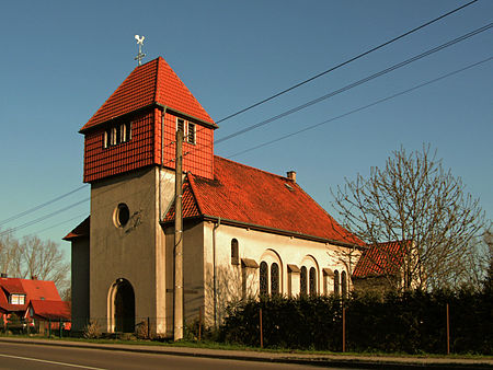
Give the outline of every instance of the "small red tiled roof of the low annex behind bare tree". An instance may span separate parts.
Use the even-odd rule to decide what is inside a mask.
[[[353,271],[354,278],[388,276],[399,273],[409,241],[397,241],[368,245],[362,253]]]

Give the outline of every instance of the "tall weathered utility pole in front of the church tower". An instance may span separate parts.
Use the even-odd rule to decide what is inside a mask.
[[[182,147],[183,127],[176,129],[176,162],[175,162],[175,199],[174,199],[174,331],[173,339],[183,338],[183,213],[182,213]]]

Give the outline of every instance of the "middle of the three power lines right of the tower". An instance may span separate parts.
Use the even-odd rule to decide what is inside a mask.
[[[330,99],[330,97],[332,97],[332,96],[335,96],[335,95],[337,95],[337,94],[340,94],[340,93],[342,93],[342,92],[345,92],[345,91],[347,91],[347,90],[351,90],[351,89],[353,89],[353,88],[356,88],[356,86],[358,86],[358,85],[360,85],[360,84],[363,84],[363,83],[366,83],[366,82],[368,82],[368,81],[370,81],[370,80],[374,80],[374,79],[376,79],[376,78],[378,78],[378,77],[380,77],[380,76],[387,74],[387,73],[389,73],[389,72],[391,72],[391,71],[394,71],[395,69],[402,68],[402,67],[404,67],[404,66],[406,66],[406,65],[409,65],[409,63],[412,63],[412,62],[414,62],[414,61],[416,61],[416,60],[420,60],[420,59],[422,59],[422,58],[424,58],[424,57],[427,57],[428,55],[432,55],[432,54],[437,53],[437,51],[439,51],[439,50],[442,50],[442,49],[445,49],[446,47],[449,47],[449,46],[451,46],[451,45],[455,45],[455,44],[457,44],[457,43],[460,43],[460,42],[462,42],[462,41],[465,41],[465,39],[467,39],[467,38],[469,38],[469,37],[472,37],[472,36],[477,35],[477,34],[479,34],[479,33],[481,33],[481,32],[484,32],[484,31],[491,28],[492,26],[493,26],[493,23],[486,24],[486,25],[484,25],[484,26],[482,26],[482,27],[480,27],[480,28],[478,28],[478,30],[474,30],[474,31],[469,32],[469,33],[467,33],[467,34],[465,34],[465,35],[462,35],[462,36],[460,36],[460,37],[457,37],[457,38],[455,38],[455,39],[452,39],[452,41],[449,41],[449,42],[447,42],[447,43],[445,43],[445,44],[442,44],[442,45],[439,45],[439,46],[436,46],[436,47],[434,47],[434,48],[432,48],[432,49],[429,49],[429,50],[426,50],[426,51],[424,51],[424,53],[422,53],[422,54],[420,54],[420,55],[417,55],[417,56],[414,56],[414,57],[412,57],[412,58],[409,58],[409,59],[406,59],[406,60],[404,60],[404,61],[401,61],[401,62],[399,62],[399,63],[397,63],[397,65],[393,65],[393,66],[391,66],[391,67],[389,67],[389,68],[386,68],[386,69],[383,69],[383,70],[381,70],[381,71],[379,71],[379,72],[377,72],[377,73],[374,73],[374,74],[371,74],[371,76],[369,76],[369,77],[366,77],[366,78],[364,78],[364,79],[362,79],[362,80],[358,80],[358,81],[356,81],[356,82],[353,82],[353,83],[351,83],[351,84],[347,84],[347,85],[345,85],[344,88],[341,88],[341,89],[339,89],[339,90],[335,90],[335,91],[333,91],[333,92],[330,92],[330,93],[328,93],[328,94],[325,94],[325,95],[322,95],[322,96],[320,96],[320,97],[317,97],[317,99],[314,99],[314,100],[311,100],[311,101],[309,101],[309,102],[307,102],[307,103],[305,103],[305,104],[298,105],[298,106],[295,107],[295,108],[285,111],[285,112],[278,114],[278,115],[276,115],[276,116],[274,116],[274,117],[264,119],[264,120],[262,120],[262,122],[260,122],[260,123],[257,123],[257,124],[254,124],[254,125],[252,125],[252,126],[249,126],[249,127],[245,127],[245,128],[243,128],[243,129],[241,129],[241,130],[238,130],[238,131],[236,131],[236,132],[232,132],[232,134],[230,134],[230,135],[228,135],[228,136],[225,136],[223,138],[220,138],[220,139],[216,140],[216,143],[220,143],[220,142],[222,142],[222,141],[232,139],[232,138],[234,138],[234,137],[237,137],[237,136],[239,136],[239,135],[245,134],[245,132],[251,131],[251,130],[253,130],[253,129],[255,129],[255,128],[259,128],[259,127],[261,127],[261,126],[264,126],[264,125],[267,125],[267,124],[270,124],[270,123],[273,123],[274,120],[277,120],[277,119],[279,119],[279,118],[286,117],[286,116],[288,116],[288,115],[290,115],[290,114],[293,114],[293,113],[296,113],[296,112],[299,112],[299,111],[301,111],[301,109],[305,109],[305,108],[307,108],[307,107],[309,107],[309,106],[311,106],[311,105],[314,105],[314,104],[317,104],[317,103],[320,103],[320,102],[322,102],[322,101],[324,101],[324,100],[326,100],[326,99]]]

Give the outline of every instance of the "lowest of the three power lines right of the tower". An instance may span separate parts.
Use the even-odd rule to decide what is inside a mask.
[[[300,130],[298,130],[298,131],[295,131],[295,132],[291,132],[291,134],[282,136],[282,137],[279,137],[279,138],[276,138],[276,139],[270,140],[270,141],[266,141],[266,142],[264,142],[264,143],[257,144],[257,146],[255,146],[255,147],[252,147],[252,148],[249,148],[249,149],[239,151],[239,152],[237,152],[237,153],[234,153],[234,154],[231,154],[231,155],[229,155],[229,157],[227,157],[227,158],[230,159],[230,158],[233,158],[233,157],[237,157],[237,155],[244,154],[244,153],[246,153],[246,152],[250,152],[250,151],[260,149],[260,148],[262,148],[262,147],[270,146],[270,144],[275,143],[275,142],[277,142],[277,141],[280,141],[280,140],[290,138],[291,136],[296,136],[296,135],[298,135],[298,134],[301,134],[301,132],[311,130],[311,129],[317,128],[317,127],[319,127],[319,126],[329,124],[329,123],[334,122],[334,120],[336,120],[336,119],[341,119],[341,118],[347,117],[348,115],[352,115],[352,114],[354,114],[354,113],[362,112],[362,111],[367,109],[367,108],[369,108],[369,107],[371,107],[371,106],[375,106],[375,105],[378,105],[378,104],[380,104],[380,103],[390,101],[390,100],[392,100],[392,99],[394,99],[394,97],[398,97],[398,96],[408,94],[408,93],[410,93],[410,92],[412,92],[412,91],[415,91],[415,90],[417,90],[417,89],[424,88],[424,86],[429,85],[429,84],[432,84],[432,83],[438,82],[438,81],[444,80],[444,79],[446,79],[446,78],[448,78],[448,77],[451,77],[451,76],[454,76],[454,74],[463,72],[463,71],[466,71],[466,70],[468,70],[468,69],[470,69],[470,68],[477,67],[477,66],[479,66],[479,65],[481,65],[481,63],[484,63],[484,62],[486,62],[486,61],[490,61],[490,60],[492,60],[492,59],[493,59],[493,57],[489,57],[489,58],[486,58],[486,59],[483,59],[483,60],[478,61],[478,62],[475,62],[475,63],[466,66],[466,67],[463,67],[463,68],[460,68],[460,69],[458,69],[458,70],[455,70],[455,71],[452,71],[452,72],[449,72],[449,73],[447,73],[447,74],[443,74],[443,76],[440,76],[440,77],[438,77],[438,78],[436,78],[436,79],[433,79],[433,80],[423,82],[423,83],[421,83],[421,84],[419,84],[419,85],[415,85],[415,86],[413,86],[413,88],[411,88],[411,89],[401,91],[401,92],[399,92],[399,93],[395,93],[395,94],[389,95],[389,96],[387,96],[387,97],[380,99],[380,100],[378,100],[378,101],[376,101],[376,102],[374,102],[374,103],[364,105],[364,106],[358,107],[358,108],[356,108],[356,109],[346,112],[346,113],[344,113],[344,114],[342,114],[342,115],[339,115],[339,116],[332,117],[332,118],[330,118],[330,119],[323,120],[323,122],[321,122],[321,123],[319,123],[319,124],[316,124],[316,125],[312,125],[312,126],[308,126],[308,127],[302,128],[302,129],[300,129]]]

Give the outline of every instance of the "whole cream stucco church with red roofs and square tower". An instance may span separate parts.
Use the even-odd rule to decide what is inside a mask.
[[[173,335],[176,130],[183,132],[183,321],[259,294],[346,294],[364,243],[298,185],[214,154],[218,126],[159,57],[80,129],[91,210],[71,242],[72,327]],[[177,289],[177,288],[176,288]]]

